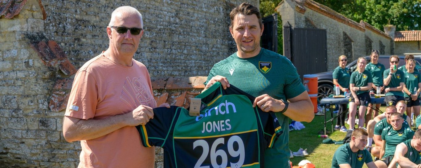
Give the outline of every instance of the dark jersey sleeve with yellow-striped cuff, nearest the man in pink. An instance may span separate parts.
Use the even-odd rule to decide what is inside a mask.
[[[136,126],[141,136],[142,145],[144,147],[163,147],[166,139],[172,138],[180,110],[181,108],[177,106],[154,108],[154,118],[145,125]]]

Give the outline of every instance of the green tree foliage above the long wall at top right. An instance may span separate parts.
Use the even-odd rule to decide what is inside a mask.
[[[361,20],[383,30],[392,24],[397,31],[420,30],[421,0],[314,0],[347,18]]]

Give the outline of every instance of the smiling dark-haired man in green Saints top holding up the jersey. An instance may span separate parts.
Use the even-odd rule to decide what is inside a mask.
[[[282,128],[288,128],[289,118],[312,121],[313,105],[296,68],[288,58],[260,47],[264,27],[259,9],[242,3],[229,16],[229,32],[237,44],[237,52],[213,66],[205,89],[216,81],[224,89],[233,84],[256,97],[253,107],[275,112]],[[285,131],[273,148],[265,150],[265,168],[290,167],[288,142],[289,134]]]

